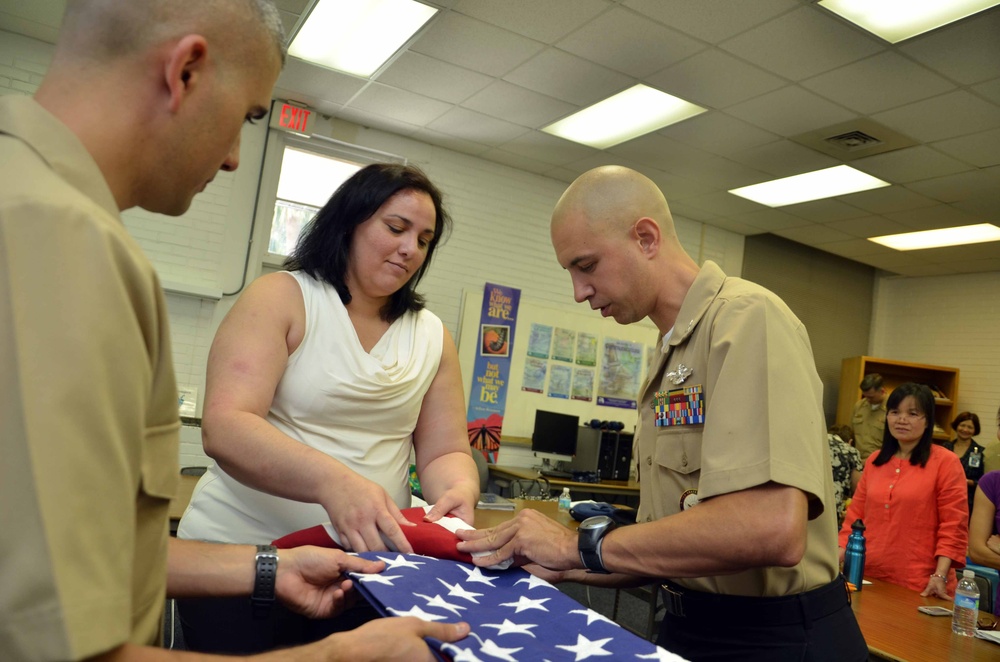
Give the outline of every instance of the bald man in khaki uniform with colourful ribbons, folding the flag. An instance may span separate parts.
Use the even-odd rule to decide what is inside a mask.
[[[867,659],[838,571],[822,385],[802,323],[760,286],[699,268],[663,194],[627,168],[579,177],[552,243],[577,301],[620,324],[649,317],[662,334],[636,431],[638,523],[595,545],[525,510],[461,533],[460,549],[499,548],[476,563],[513,556],[553,580],[662,583],[657,643],[691,660]]]

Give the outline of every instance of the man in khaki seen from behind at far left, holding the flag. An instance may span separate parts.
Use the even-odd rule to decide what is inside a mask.
[[[148,659],[166,594],[340,611],[381,564],[168,535],[177,386],[156,273],[119,211],[181,214],[238,165],[284,58],[266,0],[71,0],[34,99],[0,100],[0,657]],[[261,541],[267,542],[267,541]],[[273,567],[276,563],[277,567]],[[256,579],[255,579],[256,564]],[[432,659],[415,619],[309,659]],[[391,633],[391,636],[390,636]]]

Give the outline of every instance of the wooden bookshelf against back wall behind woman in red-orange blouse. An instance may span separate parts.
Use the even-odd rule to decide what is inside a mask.
[[[944,397],[934,400],[934,422],[941,428],[934,433],[937,441],[952,438],[951,422],[954,420],[958,403],[958,368],[939,365],[908,363],[878,359],[872,356],[852,356],[846,358],[840,367],[840,394],[837,400],[837,424],[850,425],[854,403],[861,399],[858,385],[864,376],[877,372],[885,382],[886,394],[906,382],[926,384],[940,391]]]

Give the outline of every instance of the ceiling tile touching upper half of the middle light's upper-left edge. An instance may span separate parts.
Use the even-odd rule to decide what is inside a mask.
[[[617,94],[636,82],[625,74],[554,48],[531,58],[503,79],[581,107]]]

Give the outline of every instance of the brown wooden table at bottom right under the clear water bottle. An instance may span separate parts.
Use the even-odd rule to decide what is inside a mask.
[[[952,604],[938,598],[922,598],[917,591],[877,579],[851,595],[851,607],[875,659],[907,662],[980,662],[1000,660],[1000,646],[962,637],[951,631],[950,616],[929,616],[919,605]]]

